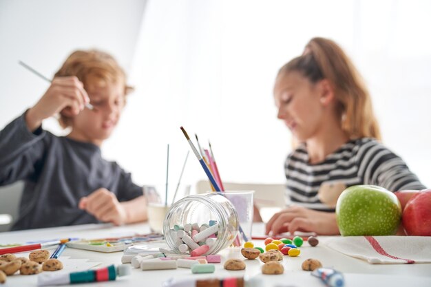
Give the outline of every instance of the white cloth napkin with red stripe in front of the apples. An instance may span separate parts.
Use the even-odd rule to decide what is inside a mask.
[[[430,236],[346,236],[330,238],[326,245],[370,264],[431,262]]]

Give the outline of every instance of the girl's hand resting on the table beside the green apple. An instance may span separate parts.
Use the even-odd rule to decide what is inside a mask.
[[[335,213],[313,211],[302,206],[290,206],[275,213],[266,224],[266,234],[289,231],[315,232],[319,235],[339,234]]]

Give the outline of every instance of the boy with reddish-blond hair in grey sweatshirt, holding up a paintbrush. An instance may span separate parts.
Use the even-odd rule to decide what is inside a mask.
[[[112,56],[76,51],[39,102],[0,131],[0,185],[25,181],[12,230],[147,219],[143,189],[100,149],[131,89]],[[71,129],[65,137],[41,128],[56,114]]]

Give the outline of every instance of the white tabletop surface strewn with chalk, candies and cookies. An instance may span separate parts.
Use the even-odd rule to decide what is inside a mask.
[[[262,230],[262,226],[253,226]],[[129,226],[111,226],[110,224],[87,224],[81,226],[64,226],[57,228],[43,228],[30,231],[13,231],[0,233],[0,244],[28,242],[34,240],[49,240],[62,237],[97,238],[112,237],[123,233],[148,233],[147,224],[132,224]],[[254,234],[254,233],[253,233]],[[132,268],[132,275],[120,277],[116,281],[79,284],[76,286],[162,286],[162,282],[170,277],[176,278],[207,278],[207,277],[248,277],[261,276],[266,286],[324,286],[316,277],[301,269],[304,259],[313,257],[319,259],[326,267],[335,268],[344,273],[345,286],[431,286],[431,264],[391,264],[372,265],[361,259],[343,255],[325,246],[328,237],[319,237],[316,247],[304,244],[299,257],[284,256],[283,275],[262,275],[262,263],[259,260],[246,260],[246,270],[228,271],[222,264],[216,264],[214,274],[194,275],[187,268],[176,270],[143,271]],[[255,241],[257,246],[263,246],[262,241]],[[50,248],[54,251],[55,246]],[[18,253],[19,254],[19,253]],[[222,263],[228,258],[241,258],[240,248],[227,248],[220,253]],[[81,249],[65,248],[61,256],[70,256],[76,259],[89,259],[90,262],[101,262],[96,268],[109,264],[120,264],[122,252],[98,253]],[[61,257],[60,257],[61,259]],[[61,272],[61,271],[56,271]],[[16,275],[8,277],[3,286],[36,286],[38,275]]]

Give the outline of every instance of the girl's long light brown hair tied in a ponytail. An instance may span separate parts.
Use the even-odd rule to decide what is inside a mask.
[[[329,39],[313,38],[304,54],[284,65],[278,75],[299,72],[311,83],[329,81],[337,98],[337,114],[350,139],[377,138],[381,140],[379,124],[372,111],[368,89],[346,53]]]

